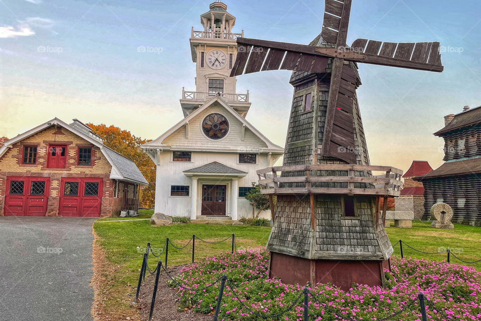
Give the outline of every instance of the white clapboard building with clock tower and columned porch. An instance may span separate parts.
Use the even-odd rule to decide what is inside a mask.
[[[184,118],[142,147],[157,166],[156,213],[237,220],[252,217],[245,195],[258,181],[256,171],[273,166],[284,148],[245,119],[249,92],[236,93],[229,77],[243,34],[232,33],[235,17],[225,4],[209,9],[200,16],[203,30],[191,31],[196,90],[182,89]],[[270,211],[261,216],[270,218]]]

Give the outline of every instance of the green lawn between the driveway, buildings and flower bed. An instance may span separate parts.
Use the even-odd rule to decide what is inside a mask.
[[[148,218],[152,211],[141,211],[141,218]],[[117,218],[118,219],[118,218]],[[105,219],[103,219],[105,220]],[[100,220],[99,220],[100,221]],[[386,228],[392,244],[402,239],[406,244],[424,252],[438,252],[449,247],[457,256],[465,261],[474,261],[481,258],[481,227],[471,227],[454,224],[454,230],[440,230],[429,227],[429,222],[413,222],[412,228]],[[151,226],[149,221],[129,221],[95,223],[94,230],[100,239],[108,266],[102,290],[107,293],[108,299],[104,302],[106,313],[125,311],[125,315],[136,313],[130,305],[131,300],[126,299],[127,293],[135,293],[142,255],[147,242],[151,243],[154,252],[158,253],[165,244],[165,238],[170,238],[178,247],[186,244],[195,234],[196,237],[206,241],[225,239],[232,233],[236,236],[236,247],[253,248],[265,246],[271,228],[253,226],[231,225],[205,225],[205,224],[176,224],[171,226]],[[139,248],[137,248],[139,247]],[[200,260],[207,255],[222,251],[230,251],[231,242],[221,244],[205,244],[195,242],[195,257]],[[168,265],[181,265],[191,261],[192,247],[188,245],[183,250],[169,247]],[[403,247],[405,256],[428,258],[430,260],[445,260],[446,254],[427,255],[415,252],[407,246]],[[394,248],[394,254],[399,255],[399,245]],[[149,256],[149,266],[155,268],[158,259],[164,261],[164,254],[159,258]],[[460,263],[451,257],[451,262]],[[465,264],[475,266],[481,271],[481,262]],[[129,284],[129,285],[128,285]]]

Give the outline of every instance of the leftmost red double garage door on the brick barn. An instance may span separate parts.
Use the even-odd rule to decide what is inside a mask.
[[[6,216],[45,216],[50,178],[8,177],[4,214]]]

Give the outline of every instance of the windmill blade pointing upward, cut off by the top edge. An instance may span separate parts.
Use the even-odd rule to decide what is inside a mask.
[[[346,46],[352,0],[326,0],[321,37],[336,47]]]

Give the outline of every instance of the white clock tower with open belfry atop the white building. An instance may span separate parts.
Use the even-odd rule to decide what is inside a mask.
[[[229,77],[237,55],[236,40],[244,37],[244,31],[232,33],[235,17],[227,12],[227,6],[221,2],[209,5],[209,11],[200,16],[200,24],[203,30],[196,31],[192,27],[190,34],[192,61],[196,63],[195,91],[182,88],[180,105],[184,117],[217,93],[241,116],[246,117],[251,107],[249,91],[237,94],[236,79]]]

